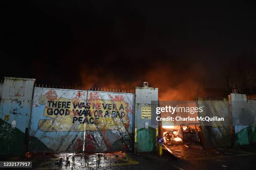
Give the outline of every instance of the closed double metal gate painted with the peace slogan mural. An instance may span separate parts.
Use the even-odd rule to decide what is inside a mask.
[[[36,87],[31,152],[132,149],[134,95]]]

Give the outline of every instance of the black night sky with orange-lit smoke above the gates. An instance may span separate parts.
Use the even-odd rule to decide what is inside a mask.
[[[129,90],[148,81],[161,99],[191,99],[205,88],[225,89],[242,72],[255,74],[252,4],[1,4],[1,78]]]

